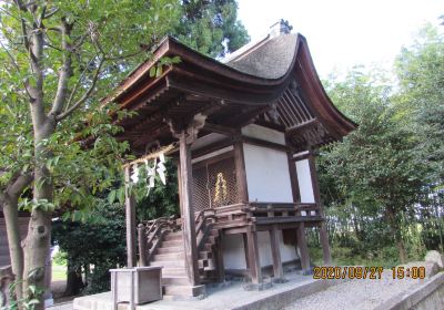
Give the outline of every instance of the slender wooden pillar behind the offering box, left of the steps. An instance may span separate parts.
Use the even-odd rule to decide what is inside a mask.
[[[130,193],[130,166],[124,168],[125,225],[127,225],[127,267],[135,267],[135,204]]]

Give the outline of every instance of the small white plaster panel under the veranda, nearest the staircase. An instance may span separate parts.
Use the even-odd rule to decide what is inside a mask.
[[[222,239],[225,269],[246,269],[242,234],[225,235]]]

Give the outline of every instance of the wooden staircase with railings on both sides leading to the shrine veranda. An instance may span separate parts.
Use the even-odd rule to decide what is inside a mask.
[[[183,247],[182,230],[179,225],[155,225],[154,221],[148,227],[142,246],[142,252],[147,256],[141,261],[144,266],[157,266],[162,268],[162,283],[164,297],[196,297],[204,293],[203,287],[193,287],[188,279],[185,269],[185,256]],[[172,223],[171,220],[169,221]],[[139,226],[141,228],[141,226]],[[139,234],[144,230],[139,229]],[[143,232],[142,232],[143,234]],[[139,239],[139,242],[143,240]],[[220,232],[212,228],[212,223],[204,216],[196,217],[196,244],[199,251],[199,273],[201,283],[218,280],[218,250],[220,248]],[[147,250],[148,249],[148,250]],[[222,267],[223,268],[223,267]]]

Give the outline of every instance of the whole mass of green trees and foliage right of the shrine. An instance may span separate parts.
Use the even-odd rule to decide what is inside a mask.
[[[356,66],[325,82],[359,124],[317,158],[336,262],[396,264],[393,241],[401,260],[442,249],[443,43],[442,30],[428,24],[401,51],[397,81]]]

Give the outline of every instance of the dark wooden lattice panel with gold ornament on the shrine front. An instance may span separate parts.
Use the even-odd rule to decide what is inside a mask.
[[[235,204],[234,158],[200,163],[193,168],[194,211]]]

